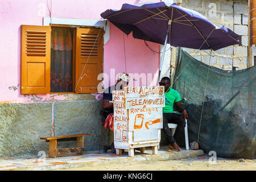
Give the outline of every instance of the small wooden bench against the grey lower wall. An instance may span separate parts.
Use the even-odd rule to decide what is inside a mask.
[[[80,155],[84,154],[84,136],[90,136],[90,134],[64,135],[56,137],[44,137],[40,139],[49,142],[49,158],[56,158],[56,155],[69,154],[73,152]],[[76,141],[76,147],[57,149],[57,142],[63,141]]]

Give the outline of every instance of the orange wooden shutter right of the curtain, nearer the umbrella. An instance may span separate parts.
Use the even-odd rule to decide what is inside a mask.
[[[77,28],[76,93],[97,92],[101,82],[97,77],[102,73],[103,33],[101,28]]]

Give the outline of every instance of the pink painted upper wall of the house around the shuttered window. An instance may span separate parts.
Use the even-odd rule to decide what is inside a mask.
[[[96,19],[106,9],[120,9],[123,3],[142,3],[143,0],[53,0],[51,14],[53,18]],[[151,2],[160,2],[151,0]],[[43,25],[43,17],[49,17],[48,7],[51,0],[1,0],[0,1],[0,102],[28,102],[20,94],[20,25]],[[159,51],[159,44],[148,43],[152,49]],[[114,69],[115,75],[125,72],[125,55],[127,73],[158,73],[159,54],[152,53],[143,40],[125,35],[124,52],[123,32],[110,23],[110,40],[104,47],[104,73],[109,76]],[[113,70],[112,70],[113,71]],[[154,77],[154,75],[152,75]],[[151,85],[151,79],[142,82],[138,78],[134,85]],[[106,81],[106,80],[105,80]],[[156,81],[156,80],[155,80]],[[105,85],[108,85],[108,82]],[[154,84],[153,84],[154,85]],[[50,101],[52,94],[37,94],[42,101]],[[55,99],[64,100],[56,95]]]

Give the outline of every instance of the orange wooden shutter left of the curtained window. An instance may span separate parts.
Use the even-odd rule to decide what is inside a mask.
[[[22,25],[21,31],[21,93],[49,93],[51,27]]]

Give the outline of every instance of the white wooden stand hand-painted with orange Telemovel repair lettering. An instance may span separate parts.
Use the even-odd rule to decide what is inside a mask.
[[[152,147],[158,153],[163,128],[164,86],[125,87],[113,91],[114,146],[117,154],[134,148]]]

